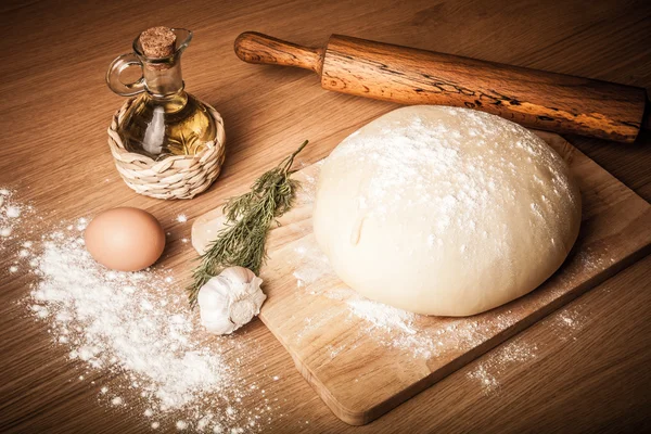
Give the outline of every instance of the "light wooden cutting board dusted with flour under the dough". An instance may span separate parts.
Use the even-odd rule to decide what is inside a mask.
[[[271,231],[261,272],[268,299],[260,318],[344,422],[360,425],[376,419],[651,250],[651,205],[560,136],[534,132],[570,163],[578,180],[578,240],[540,288],[469,318],[413,316],[373,305],[324,271],[328,265],[311,234],[310,190],[320,166],[295,175],[304,191]],[[195,248],[205,247],[220,217],[221,209],[215,209],[195,221]]]

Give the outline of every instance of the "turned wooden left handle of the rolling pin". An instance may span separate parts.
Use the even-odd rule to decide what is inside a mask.
[[[248,63],[296,66],[321,75],[323,50],[302,47],[257,31],[244,31],[235,39],[235,54]]]

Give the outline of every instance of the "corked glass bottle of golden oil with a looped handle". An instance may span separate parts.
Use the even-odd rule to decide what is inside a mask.
[[[217,127],[207,105],[184,91],[181,54],[191,40],[190,30],[152,27],[136,38],[132,53],[111,64],[111,90],[137,95],[117,130],[127,151],[159,161],[197,154],[214,140]],[[130,66],[140,66],[142,76],[124,84],[119,76]]]

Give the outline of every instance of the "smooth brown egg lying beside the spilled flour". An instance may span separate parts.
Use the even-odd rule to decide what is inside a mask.
[[[113,208],[99,214],[86,228],[84,239],[98,263],[118,271],[146,268],[165,248],[165,232],[158,220],[138,208]]]

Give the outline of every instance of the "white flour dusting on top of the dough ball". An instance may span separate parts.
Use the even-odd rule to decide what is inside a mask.
[[[500,221],[500,206],[512,205],[515,195],[536,183],[532,170],[538,164],[549,171],[553,195],[574,201],[561,171],[561,157],[524,128],[495,123],[493,115],[465,108],[446,107],[441,118],[405,113],[386,115],[382,128],[375,125],[362,135],[348,136],[328,157],[363,168],[363,181],[356,187],[363,194],[360,216],[383,220],[395,209],[426,209],[432,224],[422,240],[437,252],[443,248],[437,240],[449,228],[464,228],[469,233],[493,230]],[[450,122],[458,122],[459,128],[450,128]],[[503,148],[505,140],[513,145]],[[508,157],[498,157],[502,153]],[[539,163],[533,165],[534,159]],[[513,186],[513,176],[522,182]],[[533,224],[548,216],[547,210],[554,212],[554,201],[545,196],[534,201],[527,209]],[[456,247],[471,257],[477,254],[473,245]],[[505,252],[496,248],[495,254],[503,256]]]

